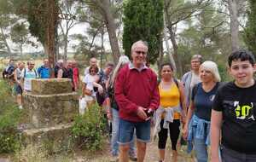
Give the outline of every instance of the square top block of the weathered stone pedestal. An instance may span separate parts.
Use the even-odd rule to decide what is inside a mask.
[[[72,82],[69,78],[33,79],[32,94],[52,95],[72,92]]]

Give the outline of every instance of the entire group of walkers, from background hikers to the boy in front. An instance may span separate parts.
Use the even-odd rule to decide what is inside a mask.
[[[168,135],[174,162],[179,139],[187,142],[188,153],[195,150],[198,162],[256,161],[256,66],[251,52],[240,49],[230,54],[228,71],[234,80],[229,83],[221,82],[218,65],[202,61],[201,55],[192,56],[191,70],[180,80],[170,63],[160,66],[157,77],[147,67],[147,55],[147,43],[137,41],[131,46],[131,61],[123,55],[116,66],[108,62],[100,70],[96,58],[91,58],[90,67],[84,70],[82,97],[88,105],[97,102],[106,107],[112,121],[112,161],[143,162],[150,135],[158,136],[159,162],[171,156],[166,153]],[[57,63],[60,67],[61,62]],[[42,70],[32,74],[32,62],[28,70],[23,68],[24,63],[20,63],[15,70],[17,83],[22,78],[36,78]],[[64,76],[61,69],[55,77]],[[79,76],[79,71],[72,72]],[[47,75],[43,73],[39,74],[41,78]],[[31,89],[26,82],[21,91]],[[73,84],[74,90],[78,85]]]

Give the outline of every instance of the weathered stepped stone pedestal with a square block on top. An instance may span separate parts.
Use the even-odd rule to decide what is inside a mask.
[[[33,79],[32,91],[23,97],[28,125],[23,130],[24,142],[62,147],[70,135],[73,119],[79,114],[78,98],[68,78]]]

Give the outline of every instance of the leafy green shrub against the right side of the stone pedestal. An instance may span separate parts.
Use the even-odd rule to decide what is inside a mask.
[[[98,105],[92,105],[88,109],[84,115],[75,119],[72,133],[79,148],[96,151],[102,148],[107,119]]]

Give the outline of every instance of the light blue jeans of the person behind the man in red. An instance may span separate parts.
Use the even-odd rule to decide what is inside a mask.
[[[119,111],[112,108],[112,138],[111,138],[111,153],[113,156],[118,156],[119,154],[119,143],[118,132],[119,132]],[[136,149],[134,146],[134,137],[130,143],[129,154],[134,156],[136,154]]]

